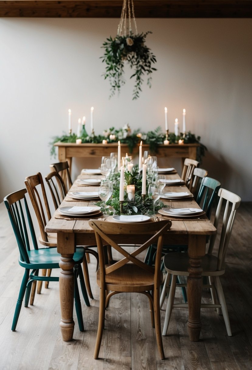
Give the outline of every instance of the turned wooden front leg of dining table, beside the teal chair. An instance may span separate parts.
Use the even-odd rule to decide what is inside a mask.
[[[69,342],[74,334],[74,254],[62,253],[64,246],[69,243],[74,248],[74,234],[58,233],[57,250],[61,253],[59,267],[62,269],[59,276],[59,299],[61,307],[61,327],[62,339]],[[70,248],[71,249],[71,248]]]

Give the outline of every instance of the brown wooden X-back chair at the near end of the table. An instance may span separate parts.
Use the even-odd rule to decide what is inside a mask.
[[[89,225],[95,231],[99,254],[97,283],[100,287],[99,322],[96,337],[94,358],[97,359],[102,340],[105,321],[105,309],[109,299],[121,292],[139,292],[149,298],[151,323],[156,330],[157,346],[161,359],[164,359],[163,343],[160,328],[159,289],[163,275],[160,271],[163,234],[170,228],[171,221],[148,222],[142,224],[115,223],[90,220]],[[119,245],[116,240],[125,237],[127,243],[142,243],[132,253],[127,246]],[[122,239],[121,239],[122,240]],[[143,242],[144,241],[144,242]],[[148,266],[138,257],[151,243],[157,242],[155,266]],[[106,265],[106,253],[103,245],[110,245],[122,255],[122,258]],[[154,310],[154,314],[153,314]]]

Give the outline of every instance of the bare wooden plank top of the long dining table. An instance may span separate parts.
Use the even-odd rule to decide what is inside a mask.
[[[79,175],[79,178],[89,178],[90,175]],[[92,178],[101,178],[101,176],[96,175]],[[179,178],[179,175],[177,173],[175,174],[167,174],[167,179],[177,179]],[[70,191],[97,191],[98,186],[83,186],[79,185],[76,181],[72,185]],[[174,192],[185,192],[188,191],[188,188],[186,186],[166,186],[163,191],[174,191]],[[65,198],[64,201],[61,204],[62,206],[88,206],[93,205],[93,202],[89,201],[75,201],[74,199],[66,200],[69,198]],[[165,199],[162,199],[163,203],[167,206],[176,206],[176,207],[191,207],[191,208],[200,208],[198,204],[195,202],[194,198],[183,200],[183,201],[168,201]],[[57,233],[57,232],[67,232],[67,233],[94,233],[93,229],[89,226],[87,219],[79,219],[79,220],[67,220],[67,219],[59,219],[55,218],[59,214],[58,210],[55,211],[54,215],[52,215],[51,220],[47,223],[45,227],[46,232],[50,233]],[[162,218],[162,215],[158,214],[160,218]],[[167,219],[167,216],[164,217]],[[169,234],[186,234],[186,235],[211,235],[216,233],[216,229],[214,225],[209,221],[209,219],[205,216],[205,218],[196,219],[196,216],[194,219],[172,219],[172,225],[170,230],[167,232]]]

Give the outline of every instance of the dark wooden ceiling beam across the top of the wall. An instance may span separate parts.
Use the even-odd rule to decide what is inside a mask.
[[[120,18],[122,0],[6,0],[0,17]],[[251,18],[251,0],[134,0],[136,18]]]

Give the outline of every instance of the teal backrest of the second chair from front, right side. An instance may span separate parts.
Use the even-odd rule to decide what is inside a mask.
[[[211,177],[204,177],[202,179],[196,202],[204,209],[207,217],[210,219],[212,206],[217,197],[221,183]]]

